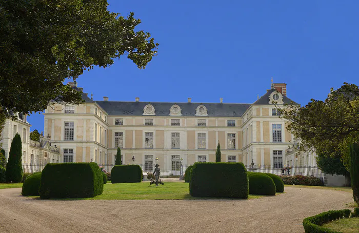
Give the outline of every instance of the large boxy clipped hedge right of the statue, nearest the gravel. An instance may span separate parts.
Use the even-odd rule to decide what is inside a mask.
[[[189,193],[193,197],[247,199],[247,170],[243,163],[195,163]]]

